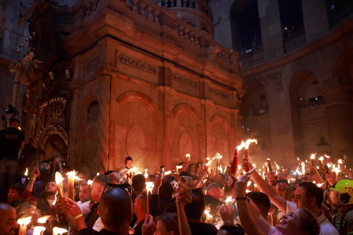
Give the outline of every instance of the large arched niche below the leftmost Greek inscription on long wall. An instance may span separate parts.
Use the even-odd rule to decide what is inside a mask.
[[[140,170],[154,169],[160,163],[156,159],[160,155],[160,120],[157,110],[154,101],[139,91],[125,92],[115,100],[110,113],[113,120],[110,129],[118,133],[112,137],[112,151],[116,157],[109,160],[112,161],[109,165],[114,169],[124,167],[121,160],[127,154],[133,155],[134,165],[139,165]]]

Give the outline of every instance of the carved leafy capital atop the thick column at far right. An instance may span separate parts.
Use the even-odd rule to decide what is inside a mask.
[[[343,85],[337,76],[314,85],[314,90],[327,105],[349,104],[349,86]]]

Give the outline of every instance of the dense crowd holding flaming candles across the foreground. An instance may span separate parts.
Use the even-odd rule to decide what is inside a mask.
[[[24,142],[13,136],[2,140]],[[348,235],[353,233],[353,181],[345,167],[349,159],[343,159],[339,170],[330,171],[332,162],[326,158],[323,165],[303,166],[299,174],[289,168],[261,174],[252,171],[250,161],[239,159],[237,174],[217,160],[215,167],[189,160],[180,162],[178,171],[143,175],[132,170],[128,156],[116,171],[94,178],[78,172],[74,200],[67,162],[60,157],[40,164],[34,160],[24,166],[29,170],[24,182],[14,179],[2,188],[7,196],[0,201],[0,234],[24,235],[24,227],[31,235],[42,226],[44,235],[63,233],[56,228],[82,235]],[[64,180],[57,184],[58,174]],[[190,190],[181,189],[186,178]],[[18,224],[23,218],[30,220]]]

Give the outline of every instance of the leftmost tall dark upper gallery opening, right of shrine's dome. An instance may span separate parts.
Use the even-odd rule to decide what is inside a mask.
[[[252,43],[262,42],[256,0],[235,0],[230,10],[232,45],[236,50],[251,49]]]

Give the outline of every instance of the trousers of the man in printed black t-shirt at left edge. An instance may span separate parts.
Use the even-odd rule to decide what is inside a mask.
[[[17,170],[18,160],[0,160],[0,188],[5,189],[5,179],[7,179],[6,188],[15,183],[15,174]],[[6,176],[7,174],[7,176]]]

